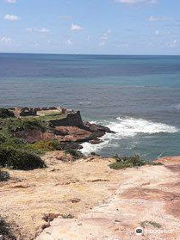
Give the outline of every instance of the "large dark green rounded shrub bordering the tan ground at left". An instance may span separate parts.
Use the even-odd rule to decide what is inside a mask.
[[[17,150],[13,147],[0,148],[0,166],[12,169],[31,170],[45,167],[44,161],[37,155]]]

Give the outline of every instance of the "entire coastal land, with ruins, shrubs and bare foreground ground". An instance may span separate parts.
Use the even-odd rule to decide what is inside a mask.
[[[0,182],[0,215],[11,232],[5,240],[179,240],[180,157],[84,156],[82,142],[98,144],[114,133],[73,110],[11,111],[1,109],[0,161],[13,153],[16,163],[1,169],[10,174]]]

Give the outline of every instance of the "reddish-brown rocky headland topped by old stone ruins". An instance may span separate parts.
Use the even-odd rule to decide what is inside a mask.
[[[45,117],[48,129],[43,132],[40,129],[24,130],[19,129],[13,132],[13,136],[23,139],[25,142],[34,143],[40,140],[58,140],[61,143],[82,143],[91,141],[93,144],[100,142],[100,137],[111,132],[109,128],[83,122],[80,111],[68,110],[61,107],[49,108],[11,108],[15,117],[23,118],[27,116]],[[49,119],[48,116],[51,118]],[[55,117],[54,117],[55,116]],[[46,118],[47,117],[47,118]],[[44,118],[43,118],[44,119]],[[73,147],[81,148],[76,144]]]

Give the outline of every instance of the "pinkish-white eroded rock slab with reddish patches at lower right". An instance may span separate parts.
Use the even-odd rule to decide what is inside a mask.
[[[165,165],[119,171],[123,181],[105,203],[75,219],[57,218],[37,240],[179,240],[180,157],[160,161]]]

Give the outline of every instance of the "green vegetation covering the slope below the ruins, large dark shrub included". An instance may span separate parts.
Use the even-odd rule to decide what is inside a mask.
[[[0,113],[8,114],[5,110],[2,111],[1,109]],[[60,142],[57,140],[42,140],[31,144],[15,137],[15,133],[19,131],[40,130],[45,132],[48,128],[50,129],[45,118],[5,118],[2,115],[0,115],[0,118],[1,167],[20,170],[43,168],[45,163],[40,155],[46,151],[62,149]]]

